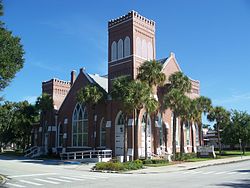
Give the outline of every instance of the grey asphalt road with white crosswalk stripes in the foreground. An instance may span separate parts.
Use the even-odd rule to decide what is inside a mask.
[[[36,160],[1,159],[3,187],[237,187],[250,188],[250,161],[171,173],[109,174],[89,172],[87,165],[53,165]]]

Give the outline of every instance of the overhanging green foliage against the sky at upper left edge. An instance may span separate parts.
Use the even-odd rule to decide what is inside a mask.
[[[3,15],[3,4],[0,1],[0,16]],[[8,31],[0,22],[0,91],[9,85],[16,73],[23,68],[24,50],[21,39]]]

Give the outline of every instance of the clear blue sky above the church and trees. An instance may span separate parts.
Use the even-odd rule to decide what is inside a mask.
[[[214,105],[250,112],[250,1],[3,0],[6,26],[22,39],[25,66],[4,90],[34,102],[41,82],[85,67],[107,73],[107,22],[136,10],[156,21],[156,56],[176,54]]]

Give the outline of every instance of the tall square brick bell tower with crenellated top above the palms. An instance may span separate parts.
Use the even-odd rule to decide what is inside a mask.
[[[130,11],[108,22],[108,79],[130,75],[136,78],[138,67],[155,59],[155,22]]]

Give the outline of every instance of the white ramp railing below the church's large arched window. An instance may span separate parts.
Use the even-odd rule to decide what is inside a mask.
[[[60,154],[61,160],[106,162],[112,158],[112,150],[87,150]]]

